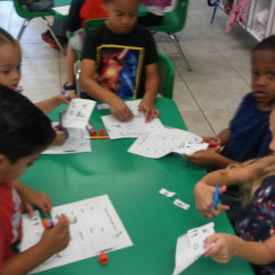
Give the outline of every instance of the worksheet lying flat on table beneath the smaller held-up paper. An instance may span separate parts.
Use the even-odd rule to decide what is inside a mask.
[[[58,122],[52,122],[56,127]],[[91,152],[89,133],[87,130],[67,128],[68,138],[62,145],[50,146],[42,154],[72,154]]]

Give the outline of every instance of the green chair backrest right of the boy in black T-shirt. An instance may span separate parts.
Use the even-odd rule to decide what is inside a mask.
[[[165,98],[173,98],[175,67],[169,57],[158,52],[158,74],[161,85],[158,92]]]

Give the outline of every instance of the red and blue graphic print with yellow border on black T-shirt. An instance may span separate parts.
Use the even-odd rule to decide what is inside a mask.
[[[96,79],[120,98],[136,98],[143,59],[142,47],[100,45],[97,48]]]

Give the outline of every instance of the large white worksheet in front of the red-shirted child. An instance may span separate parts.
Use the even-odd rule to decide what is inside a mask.
[[[69,224],[69,244],[31,274],[133,245],[108,195],[53,208],[52,217],[61,213],[76,218],[76,222]],[[23,215],[21,251],[37,243],[43,230],[38,211],[31,219]]]

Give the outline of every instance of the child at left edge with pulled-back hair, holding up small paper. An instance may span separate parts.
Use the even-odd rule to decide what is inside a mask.
[[[0,28],[0,84],[16,90],[21,78],[21,50],[18,41],[15,41],[8,32]],[[68,91],[69,98],[76,96]],[[37,102],[36,106],[44,112],[51,112],[59,105],[69,103],[63,95],[52,97],[50,99]],[[54,145],[62,144],[67,139],[63,131],[56,131]]]

